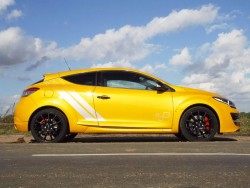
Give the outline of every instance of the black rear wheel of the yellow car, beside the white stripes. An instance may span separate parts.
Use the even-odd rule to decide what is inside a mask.
[[[30,129],[37,142],[62,142],[68,133],[68,121],[59,110],[46,108],[33,116]]]

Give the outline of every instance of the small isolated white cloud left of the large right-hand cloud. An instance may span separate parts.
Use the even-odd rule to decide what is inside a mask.
[[[189,53],[188,48],[183,48],[179,54],[174,55],[169,63],[171,65],[181,66],[181,65],[190,65],[192,64],[192,58]]]

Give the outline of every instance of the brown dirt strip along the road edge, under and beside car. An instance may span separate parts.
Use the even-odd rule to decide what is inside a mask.
[[[126,141],[178,141],[178,139],[171,134],[158,135],[158,134],[80,134],[72,142],[126,142]],[[237,135],[216,135],[214,141],[250,141],[250,136],[237,136]],[[35,142],[32,136],[26,135],[0,135],[0,144],[13,144],[13,143],[33,143]]]

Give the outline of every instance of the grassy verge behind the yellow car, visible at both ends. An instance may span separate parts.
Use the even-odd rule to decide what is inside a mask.
[[[250,118],[241,117],[241,126],[240,131],[236,133],[228,133],[237,136],[250,136]],[[8,118],[7,120],[3,120],[0,122],[0,135],[11,135],[11,134],[23,134],[15,130],[13,125],[13,118]],[[30,134],[30,133],[27,133]]]

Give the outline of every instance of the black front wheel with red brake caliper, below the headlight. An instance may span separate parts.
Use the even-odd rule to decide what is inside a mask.
[[[187,141],[210,141],[218,132],[216,115],[208,108],[197,106],[188,109],[181,117],[181,135]]]

